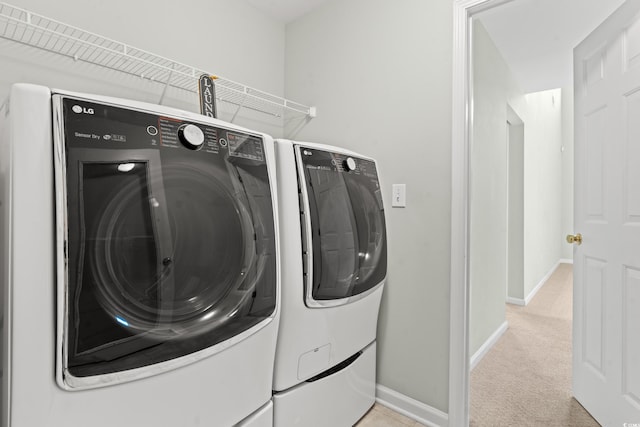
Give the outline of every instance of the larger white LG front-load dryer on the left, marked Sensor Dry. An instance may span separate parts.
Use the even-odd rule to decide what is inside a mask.
[[[273,140],[31,85],[0,127],[2,425],[271,426]]]

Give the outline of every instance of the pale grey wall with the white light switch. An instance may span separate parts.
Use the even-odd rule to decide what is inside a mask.
[[[288,98],[318,107],[297,139],[378,159],[389,270],[378,382],[447,412],[450,0],[334,0],[287,26]],[[392,209],[391,185],[407,184]]]

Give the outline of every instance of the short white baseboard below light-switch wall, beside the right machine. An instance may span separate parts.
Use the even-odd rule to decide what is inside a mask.
[[[409,396],[376,384],[376,402],[429,427],[447,427],[449,416]]]

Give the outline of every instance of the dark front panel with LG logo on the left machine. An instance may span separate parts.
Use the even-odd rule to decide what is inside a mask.
[[[260,136],[81,99],[61,108],[62,387],[173,369],[273,316]]]

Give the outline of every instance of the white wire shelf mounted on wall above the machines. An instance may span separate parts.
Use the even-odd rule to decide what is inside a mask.
[[[59,55],[198,93],[211,73],[0,2],[0,37]],[[315,108],[212,75],[216,99],[276,117],[293,112],[315,117]]]

